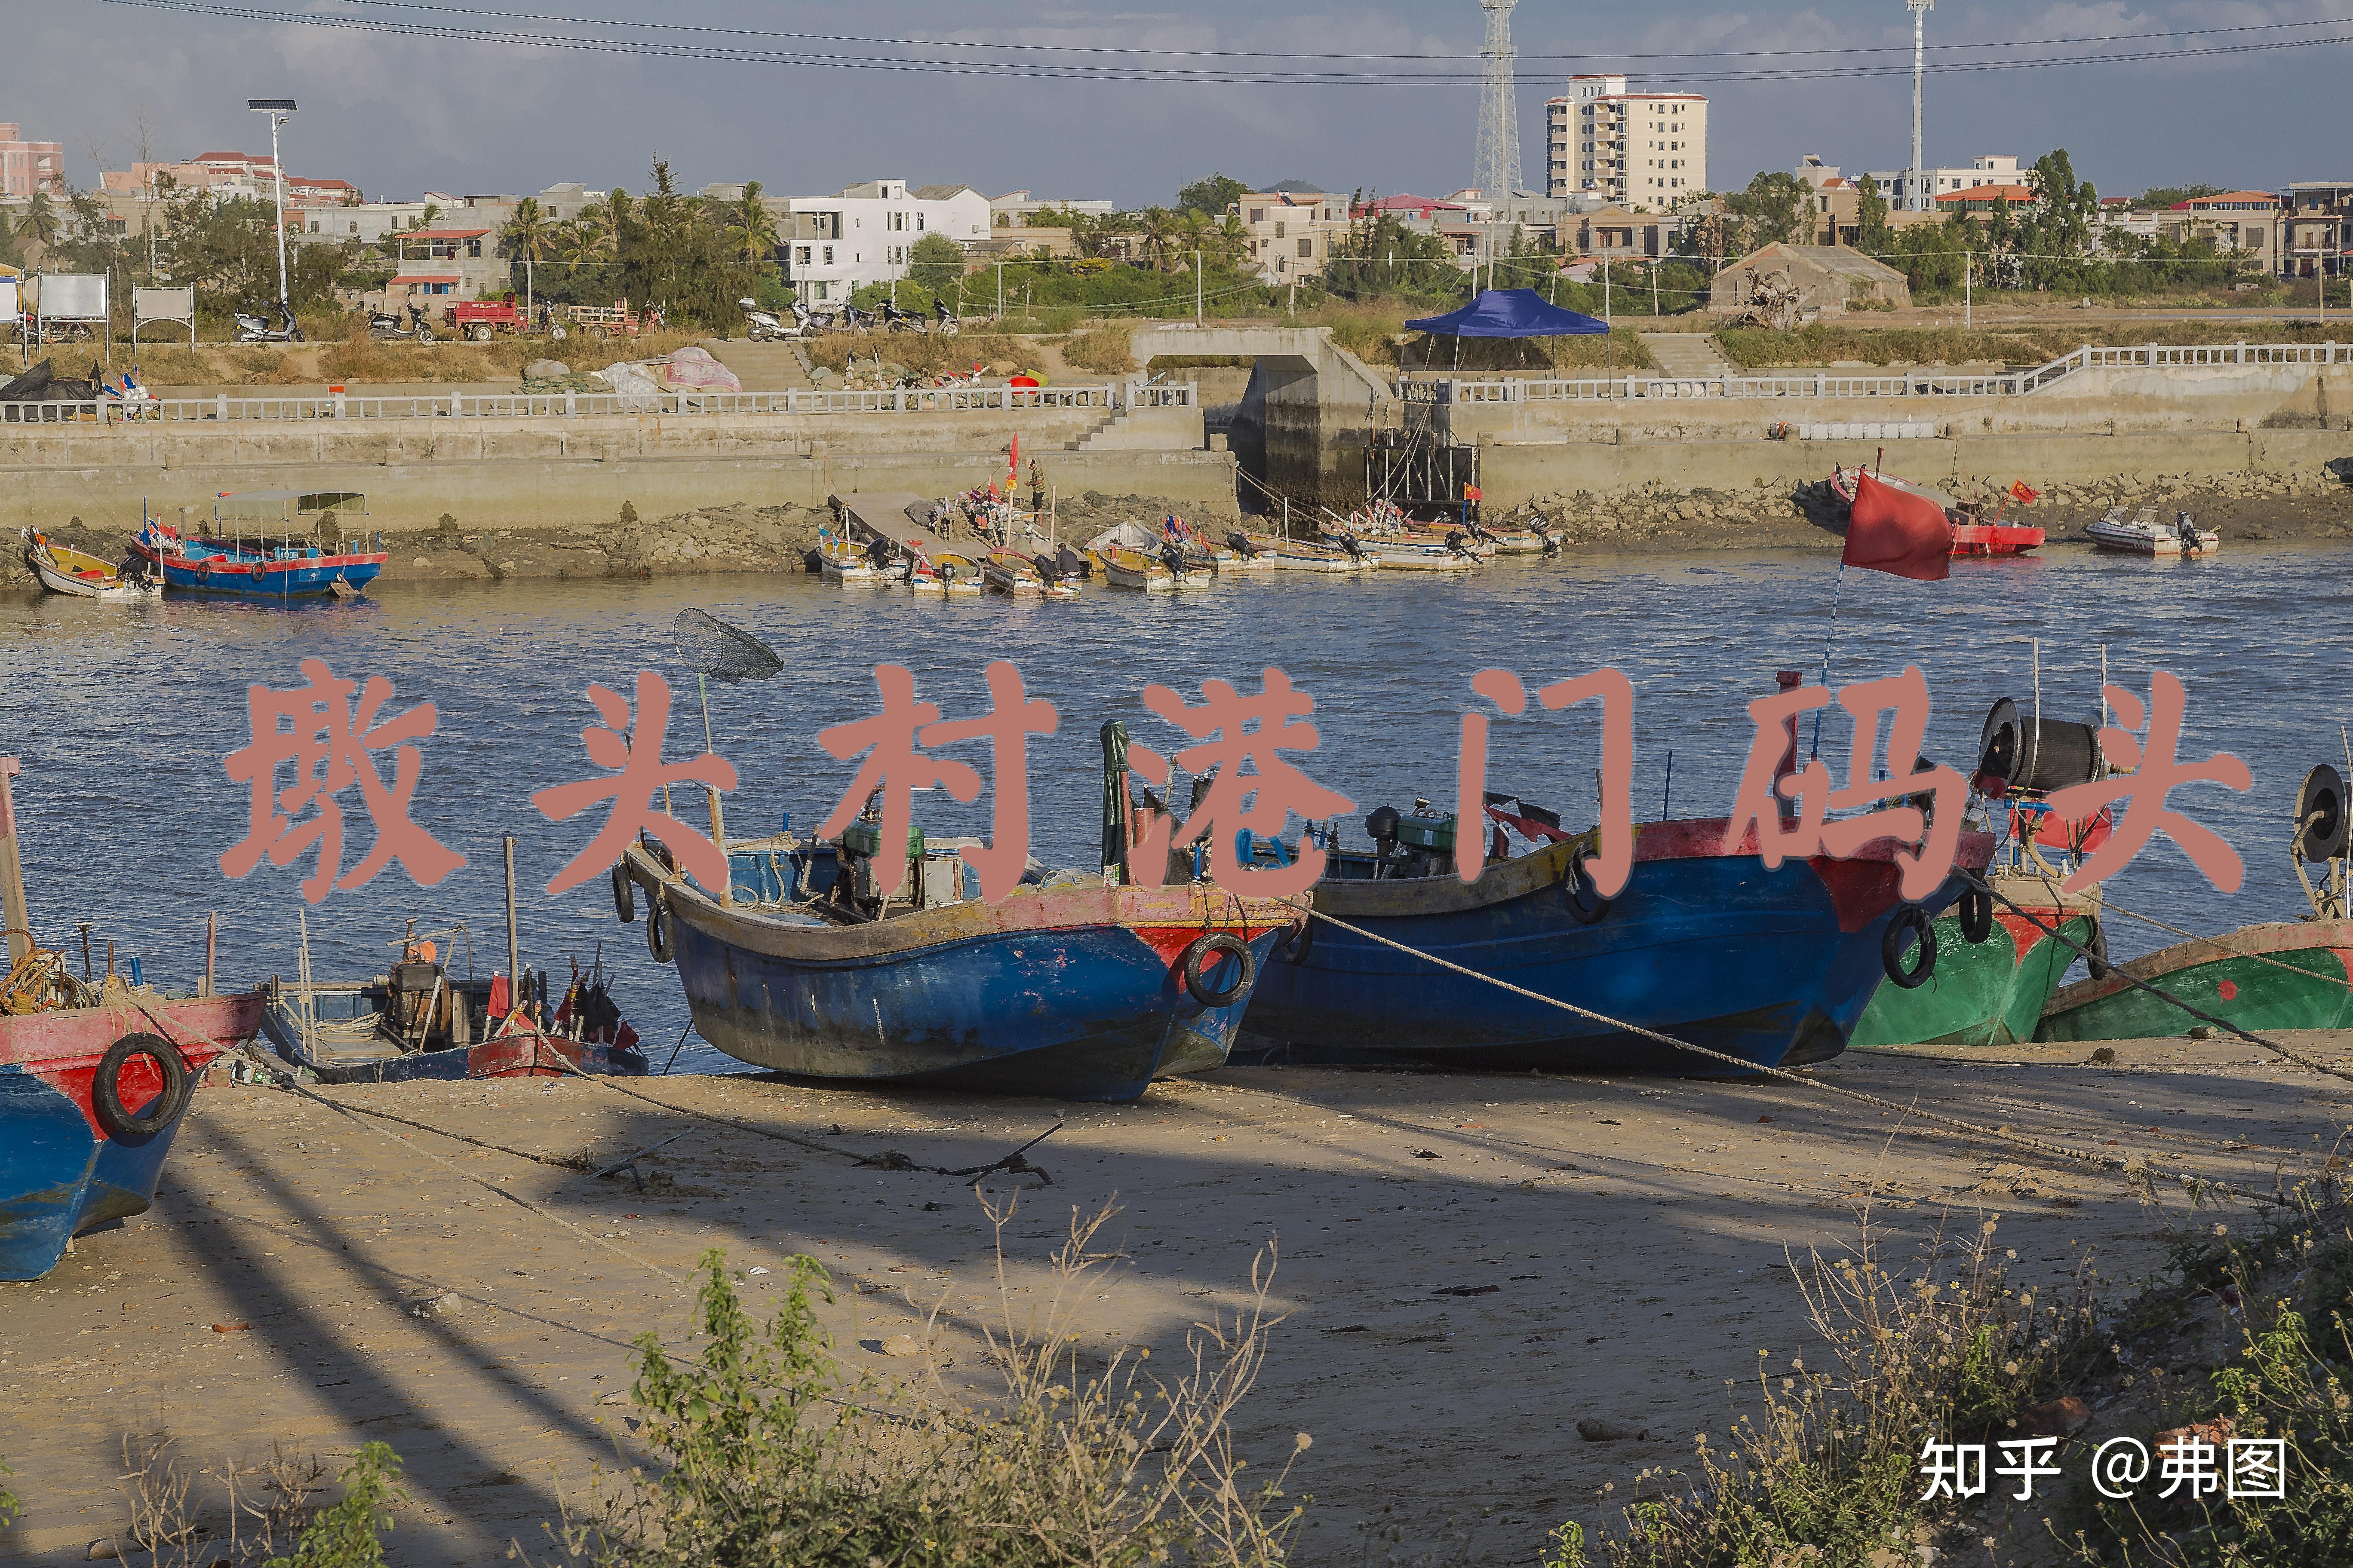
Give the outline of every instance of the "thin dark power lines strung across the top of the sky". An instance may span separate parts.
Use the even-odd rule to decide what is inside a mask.
[[[551,14],[527,14],[527,12],[482,12],[468,7],[433,7],[416,5],[412,0],[358,0],[376,9],[412,9],[454,16],[482,16],[494,21],[551,21],[569,28],[621,28],[621,31],[654,31],[654,33],[682,33],[701,35],[713,40],[755,40],[755,38],[781,38],[800,42],[866,42],[866,40],[835,40],[826,35],[798,35],[798,33],[772,33],[758,28],[701,28],[685,24],[628,24],[628,21],[595,21],[576,16],[551,16]],[[1099,82],[1221,82],[1221,85],[1285,85],[1285,87],[1449,87],[1449,85],[1473,85],[1478,75],[1428,71],[1428,61],[1468,61],[1475,56],[1384,56],[1384,54],[1308,54],[1308,56],[1285,56],[1285,59],[1367,59],[1367,61],[1395,61],[1414,59],[1424,68],[1414,71],[1337,71],[1337,68],[1308,68],[1308,71],[1240,71],[1240,68],[1202,68],[1198,63],[1085,63],[1080,59],[1047,59],[1047,61],[988,61],[988,59],[906,59],[906,56],[880,56],[880,54],[842,54],[842,52],[819,52],[819,49],[774,49],[774,47],[746,47],[734,42],[664,42],[664,40],[638,40],[616,38],[598,33],[546,33],[546,31],[522,31],[522,28],[475,28],[456,26],[445,21],[400,21],[379,16],[336,16],[336,14],[296,14],[278,12],[252,5],[231,5],[226,0],[106,0],[106,5],[129,5],[139,9],[176,12],[191,16],[219,16],[231,21],[259,21],[275,26],[311,26],[311,28],[339,28],[355,33],[376,33],[393,38],[428,38],[449,40],[466,45],[506,45],[527,49],[565,49],[579,54],[621,54],[640,59],[692,59],[692,61],[727,61],[727,63],[762,63],[762,66],[805,66],[821,71],[882,71],[882,73],[908,73],[908,75],[972,75],[972,78],[1021,78],[1021,80],[1099,80]],[[2082,38],[2082,40],[2035,40],[2035,42],[1981,42],[1981,45],[1939,45],[1953,52],[1993,52],[1993,49],[2024,49],[2024,47],[2085,47],[2085,45],[2115,45],[2115,42],[2141,42],[2155,38],[2221,38],[2238,33],[2266,33],[2282,28],[2320,28],[2320,26],[2348,26],[2353,19],[2327,19],[2311,24],[2252,24],[2242,28],[2202,28],[2202,31],[2174,31],[2174,33],[2115,33],[2106,38]],[[998,52],[1045,52],[1056,49],[1066,54],[1104,54],[1118,59],[1144,59],[1144,61],[1217,61],[1235,59],[1235,52],[1179,52],[1179,49],[1113,49],[1113,47],[1078,47],[1078,45],[951,45],[946,40],[875,40],[901,49],[998,49]],[[2273,38],[2273,40],[2247,40],[2247,42],[2224,42],[2205,47],[2172,47],[2172,49],[2122,49],[2111,54],[2064,54],[2045,59],[1944,59],[1925,66],[1934,75],[1953,73],[1984,73],[1984,71],[2054,71],[2075,66],[2113,66],[2113,63],[2158,63],[2158,61],[2181,61],[2181,59],[2221,59],[2231,54],[2266,54],[2280,49],[2315,49],[2329,45],[2353,42],[2353,35],[2332,38]],[[1784,59],[1807,59],[1828,56],[1819,66],[1784,66],[1784,68],[1753,68],[1753,71],[1682,71],[1682,73],[1659,73],[1654,80],[1664,85],[1675,82],[1802,82],[1802,80],[1857,80],[1857,78],[1880,78],[1880,75],[1904,75],[1908,71],[1901,61],[1875,61],[1859,63],[1857,54],[1889,54],[1889,49],[1784,49],[1777,56]],[[1729,52],[1711,54],[1657,54],[1657,56],[1628,56],[1628,59],[1725,59]],[[1739,56],[1753,59],[1755,52],[1744,52]],[[1254,59],[1254,56],[1252,56]],[[1539,56],[1551,59],[1551,56]]]

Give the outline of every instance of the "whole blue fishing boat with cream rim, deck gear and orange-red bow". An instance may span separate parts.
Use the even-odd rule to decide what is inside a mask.
[[[736,1060],[1056,1100],[1134,1100],[1221,1067],[1268,950],[1301,919],[1207,882],[1127,886],[1120,856],[1111,877],[1033,865],[988,905],[967,844],[913,830],[885,898],[868,806],[838,839],[732,842],[725,900],[635,844],[614,905],[633,919],[645,893],[647,947]]]

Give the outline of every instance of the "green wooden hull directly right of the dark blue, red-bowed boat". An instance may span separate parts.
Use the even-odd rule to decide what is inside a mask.
[[[1998,893],[2026,907],[2026,914],[2085,947],[2099,917],[2094,896],[2066,896],[2057,879],[1991,877]],[[1925,985],[1904,990],[1885,983],[1864,1009],[1847,1039],[1849,1048],[1871,1046],[2009,1046],[2035,1037],[2042,1009],[2059,978],[2075,961],[2075,950],[2045,936],[2031,919],[2000,898],[1993,903],[1993,931],[1984,943],[1960,933],[1960,917],[1937,917],[1937,973]]]

